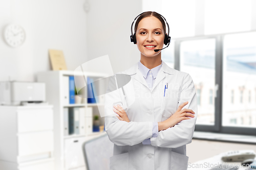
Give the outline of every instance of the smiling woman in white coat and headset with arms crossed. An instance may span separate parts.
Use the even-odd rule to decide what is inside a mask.
[[[136,18],[131,41],[140,61],[117,73],[109,82],[116,90],[105,94],[105,130],[114,143],[110,169],[187,169],[186,144],[197,119],[193,80],[161,60],[157,49],[170,40],[165,18],[151,11]],[[118,74],[129,77],[129,83],[120,83]]]

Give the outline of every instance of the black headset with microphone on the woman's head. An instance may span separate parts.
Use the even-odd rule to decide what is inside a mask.
[[[141,14],[143,14],[143,13],[145,13],[145,12],[142,12]],[[138,16],[136,16],[136,18],[134,19],[134,21],[141,15],[141,14],[139,14]],[[161,15],[161,14],[159,14],[164,20],[165,20],[165,22],[166,22],[166,25],[167,25],[167,28],[168,28],[168,34],[165,34],[164,35],[164,44],[165,45],[167,45],[166,47],[168,47],[169,46],[169,44],[170,44],[170,40],[172,39],[172,38],[170,38],[170,36],[169,36],[169,31],[170,31],[170,29],[169,29],[169,25],[168,25],[168,22],[166,21],[166,19]],[[137,40],[136,40],[136,33],[134,33],[133,34],[133,24],[134,24],[134,21],[133,21],[133,23],[132,23],[132,26],[131,26],[131,36],[130,36],[130,38],[131,38],[131,42],[133,42],[134,44],[136,44],[137,43]],[[166,48],[166,47],[164,47],[164,48]],[[155,52],[158,52],[158,51],[160,51],[160,50],[163,50],[164,48],[162,48],[162,49],[155,49],[154,51]]]

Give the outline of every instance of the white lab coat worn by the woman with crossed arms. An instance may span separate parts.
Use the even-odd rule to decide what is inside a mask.
[[[138,69],[138,63],[117,73],[131,76],[131,81],[123,86],[124,93],[119,88],[105,94],[105,114],[108,115],[105,116],[105,130],[114,143],[110,169],[187,169],[186,144],[191,142],[197,119],[193,80],[189,74],[170,68],[163,62],[150,90]],[[168,88],[164,96],[166,83]],[[153,122],[166,120],[186,101],[188,104],[183,109],[192,109],[195,117],[182,120],[174,127],[160,131],[158,137],[152,137]],[[126,111],[129,123],[116,117],[113,106],[117,104]],[[151,144],[142,144],[147,138],[151,138]]]

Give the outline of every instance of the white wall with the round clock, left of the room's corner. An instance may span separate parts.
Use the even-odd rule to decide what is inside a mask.
[[[87,57],[87,14],[84,0],[0,0],[0,81],[34,81],[38,71],[50,70],[48,50],[62,50],[74,70]],[[17,48],[3,39],[4,28],[18,23],[26,32]]]

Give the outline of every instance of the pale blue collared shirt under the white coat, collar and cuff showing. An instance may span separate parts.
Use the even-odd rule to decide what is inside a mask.
[[[142,74],[142,76],[144,77],[144,79],[146,80],[146,83],[148,85],[148,88],[152,89],[155,79],[157,78],[157,74],[160,70],[160,68],[163,65],[163,61],[161,60],[161,64],[149,69],[146,66],[144,66],[141,62],[139,62],[139,70]],[[157,137],[158,136],[158,123],[157,122],[153,122],[153,135],[152,137]],[[142,144],[151,144],[150,142],[150,138],[145,139]]]

